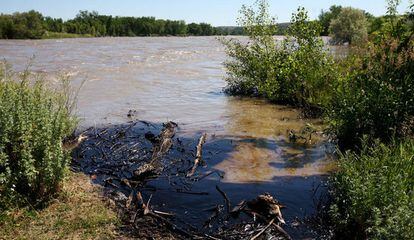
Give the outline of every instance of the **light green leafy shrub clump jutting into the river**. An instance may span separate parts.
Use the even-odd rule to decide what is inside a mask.
[[[319,24],[309,21],[307,12],[299,8],[292,15],[288,36],[277,43],[273,37],[276,23],[268,13],[267,1],[259,0],[256,6],[257,10],[244,6],[239,19],[249,36],[248,43],[221,39],[230,56],[225,63],[226,92],[301,107],[329,101],[326,86],[335,79],[335,71],[319,38]]]

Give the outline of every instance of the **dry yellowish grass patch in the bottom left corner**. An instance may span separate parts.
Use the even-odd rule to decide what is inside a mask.
[[[0,213],[0,239],[115,239],[119,224],[99,187],[71,172],[59,197],[46,208]]]

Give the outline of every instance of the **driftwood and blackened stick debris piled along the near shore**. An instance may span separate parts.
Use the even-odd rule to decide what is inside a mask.
[[[86,139],[74,151],[73,168],[91,176],[105,187],[110,203],[119,210],[124,224],[140,238],[177,239],[291,239],[283,229],[283,206],[270,194],[244,200],[232,207],[231,199],[219,185],[217,202],[202,227],[183,223],[172,211],[153,206],[152,195],[144,199],[142,191],[151,179],[168,180],[173,191],[194,195],[192,186],[217,173],[200,171],[203,145],[207,134],[198,139],[180,139],[178,125],[167,122],[155,125],[132,121],[125,125],[90,128],[82,133]],[[154,189],[156,191],[156,189]]]

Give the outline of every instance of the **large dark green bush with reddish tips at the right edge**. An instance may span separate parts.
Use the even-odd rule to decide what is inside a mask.
[[[414,37],[402,21],[345,61],[328,111],[342,147],[360,145],[364,135],[386,142],[413,134]]]

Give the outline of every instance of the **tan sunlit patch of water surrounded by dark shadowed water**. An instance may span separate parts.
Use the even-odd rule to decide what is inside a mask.
[[[309,156],[301,152],[294,157],[287,155],[286,149],[263,149],[253,143],[240,143],[227,159],[213,168],[225,172],[224,181],[229,183],[271,182],[277,177],[325,175],[336,169],[335,161],[323,154]]]

